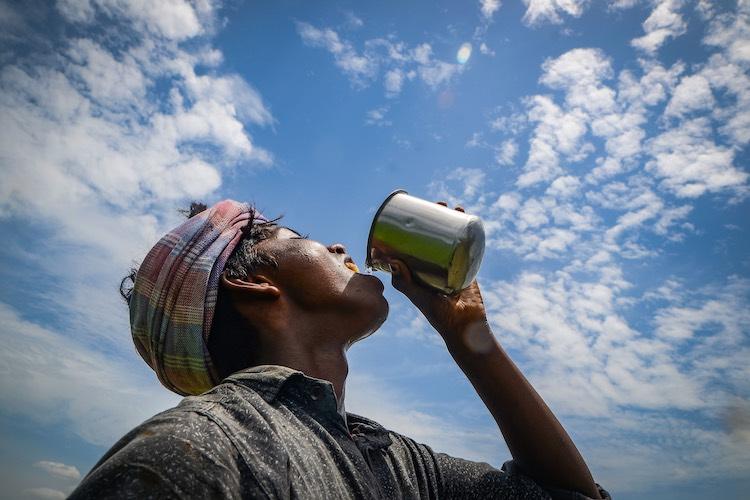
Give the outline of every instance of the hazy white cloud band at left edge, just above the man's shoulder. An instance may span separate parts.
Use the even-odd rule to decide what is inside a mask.
[[[159,385],[132,349],[124,359],[113,358],[27,321],[5,304],[0,325],[0,366],[12,374],[0,382],[0,400],[24,418],[68,425],[88,442],[111,446],[180,399]]]

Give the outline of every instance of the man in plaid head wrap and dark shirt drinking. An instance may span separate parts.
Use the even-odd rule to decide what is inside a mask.
[[[71,498],[608,498],[495,340],[476,281],[447,297],[391,262],[497,421],[503,470],[345,412],[347,349],[388,303],[342,245],[231,200],[190,215],[128,296],[138,352],[188,397],[117,442]]]

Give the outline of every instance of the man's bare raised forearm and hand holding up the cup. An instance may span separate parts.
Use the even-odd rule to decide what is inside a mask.
[[[546,488],[600,498],[573,441],[495,339],[476,280],[458,295],[445,296],[416,284],[403,262],[393,261],[391,266],[393,286],[443,337],[524,473]]]

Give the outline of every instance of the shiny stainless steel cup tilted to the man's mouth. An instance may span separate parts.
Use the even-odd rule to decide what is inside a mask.
[[[483,255],[484,227],[479,217],[399,189],[375,213],[366,264],[391,272],[388,260],[401,260],[421,283],[455,294],[474,280]]]

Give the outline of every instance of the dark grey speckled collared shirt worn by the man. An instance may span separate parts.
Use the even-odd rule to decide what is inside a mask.
[[[330,382],[248,368],[130,431],[70,498],[587,498],[345,417]]]

